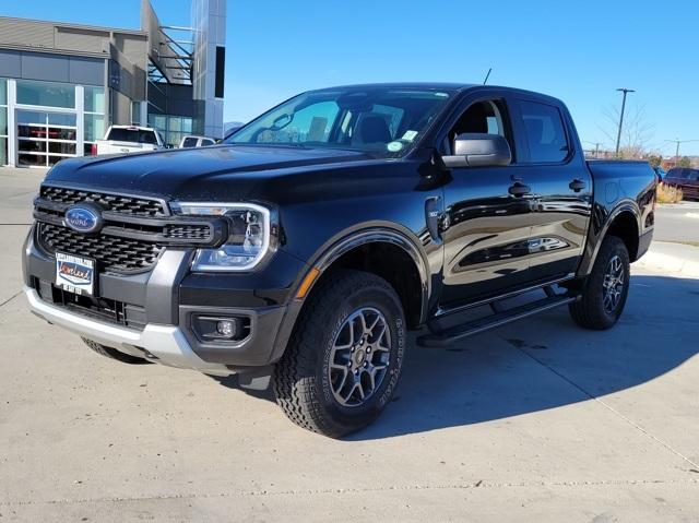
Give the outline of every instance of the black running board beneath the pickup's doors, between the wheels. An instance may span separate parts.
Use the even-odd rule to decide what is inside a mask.
[[[531,301],[509,310],[497,310],[499,307],[494,307],[494,314],[447,329],[439,334],[426,334],[424,336],[419,336],[417,338],[417,345],[423,347],[447,347],[454,342],[463,340],[464,337],[521,320],[529,316],[538,314],[540,312],[555,309],[556,307],[572,304],[573,301],[577,301],[578,298],[579,297],[577,295],[570,294],[548,295],[546,298]]]

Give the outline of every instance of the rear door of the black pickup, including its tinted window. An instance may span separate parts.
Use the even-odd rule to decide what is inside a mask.
[[[521,163],[535,205],[530,276],[553,280],[576,271],[592,210],[592,177],[568,111],[555,102],[518,98],[512,108]]]

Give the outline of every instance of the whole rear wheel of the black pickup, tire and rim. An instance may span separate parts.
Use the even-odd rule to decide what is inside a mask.
[[[592,272],[582,285],[582,298],[569,306],[570,316],[585,329],[609,329],[624,311],[629,284],[630,263],[626,245],[616,236],[607,236],[602,241]]]

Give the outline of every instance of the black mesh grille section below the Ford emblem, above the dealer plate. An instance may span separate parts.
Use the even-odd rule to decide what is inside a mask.
[[[39,223],[38,241],[50,254],[66,252],[97,260],[99,271],[140,272],[155,265],[164,247],[151,241],[99,235],[85,236],[68,227]]]

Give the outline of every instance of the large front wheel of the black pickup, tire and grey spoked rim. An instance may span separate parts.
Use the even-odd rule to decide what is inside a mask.
[[[405,318],[384,280],[337,271],[309,297],[274,372],[276,400],[292,421],[339,438],[369,425],[401,373]]]

